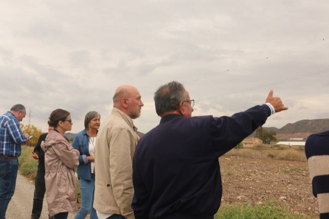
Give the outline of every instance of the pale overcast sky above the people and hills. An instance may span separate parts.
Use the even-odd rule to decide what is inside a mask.
[[[153,93],[176,80],[195,99],[193,116],[231,116],[273,89],[289,109],[264,126],[329,118],[328,11],[327,0],[1,1],[0,114],[21,103],[45,132],[63,108],[77,133],[130,84],[145,133],[160,120]]]

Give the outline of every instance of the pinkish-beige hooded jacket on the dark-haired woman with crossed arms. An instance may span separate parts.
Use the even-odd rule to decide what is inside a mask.
[[[76,211],[79,151],[56,131],[50,131],[41,143],[45,152],[45,184],[49,215]]]

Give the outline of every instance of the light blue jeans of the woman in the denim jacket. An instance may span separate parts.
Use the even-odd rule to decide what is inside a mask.
[[[84,219],[90,212],[90,219],[98,219],[94,203],[95,176],[91,180],[80,179],[81,207],[75,219]]]

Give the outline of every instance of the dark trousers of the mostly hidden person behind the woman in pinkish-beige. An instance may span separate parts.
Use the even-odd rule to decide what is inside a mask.
[[[36,171],[34,186],[35,190],[31,219],[39,219],[42,211],[43,198],[46,192],[45,171],[41,170],[39,167],[38,171]]]

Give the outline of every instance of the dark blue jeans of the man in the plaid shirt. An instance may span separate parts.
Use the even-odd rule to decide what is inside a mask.
[[[0,157],[0,219],[6,218],[6,211],[14,195],[19,160]]]

